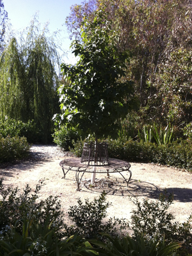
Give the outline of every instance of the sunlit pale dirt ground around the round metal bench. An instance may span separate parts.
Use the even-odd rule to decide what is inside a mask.
[[[49,152],[42,153],[42,150]],[[112,203],[108,208],[108,217],[116,216],[129,220],[132,210],[135,209],[131,199],[136,196],[139,200],[158,199],[159,193],[165,188],[168,193],[174,194],[174,204],[169,211],[174,214],[176,220],[184,222],[192,213],[192,174],[183,169],[132,162],[132,179],[128,188],[120,174],[110,174],[109,178],[105,174],[97,174],[94,185],[90,185],[92,174],[85,174],[81,191],[76,191],[75,172],[69,171],[63,179],[62,168],[59,166],[59,162],[69,156],[58,153],[59,151],[55,153],[55,146],[33,146],[31,152],[34,156],[30,159],[0,168],[0,178],[5,178],[4,186],[12,185],[22,191],[26,184],[35,188],[36,184],[44,179],[46,184],[40,190],[40,199],[50,195],[58,196],[65,213],[69,206],[76,204],[79,197],[82,201],[87,198],[91,201],[105,190],[107,201]],[[124,175],[128,177],[128,174]]]

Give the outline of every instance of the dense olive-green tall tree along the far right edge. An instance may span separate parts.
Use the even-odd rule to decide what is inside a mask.
[[[183,2],[175,17],[169,43],[164,50],[164,62],[159,65],[155,86],[161,98],[159,112],[177,126],[192,121],[192,11],[190,3]]]

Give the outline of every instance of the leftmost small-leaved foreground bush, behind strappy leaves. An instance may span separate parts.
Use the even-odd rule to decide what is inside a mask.
[[[0,229],[7,225],[15,225],[17,222],[17,232],[22,233],[23,220],[31,219],[39,222],[44,226],[47,216],[52,220],[55,231],[59,231],[63,225],[63,212],[60,210],[60,201],[57,197],[50,196],[45,200],[38,200],[38,193],[43,185],[40,181],[33,190],[27,184],[23,193],[19,193],[18,188],[8,187],[4,190],[2,181],[0,183],[0,192],[2,200],[0,200]]]

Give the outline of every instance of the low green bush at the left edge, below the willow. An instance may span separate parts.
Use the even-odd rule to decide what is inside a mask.
[[[29,149],[30,145],[25,137],[0,136],[0,163],[25,158]]]

